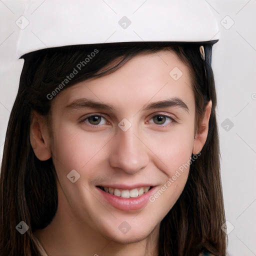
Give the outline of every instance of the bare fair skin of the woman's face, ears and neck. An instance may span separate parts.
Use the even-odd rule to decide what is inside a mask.
[[[174,67],[182,76],[174,80]],[[145,109],[177,97],[187,106]],[[67,107],[86,98],[112,105],[113,109]],[[143,209],[120,210],[105,201],[98,184],[150,183],[160,189],[191,153],[205,143],[211,101],[198,130],[194,130],[195,103],[188,68],[170,51],[140,54],[113,73],[89,79],[60,92],[52,107],[52,124],[33,113],[30,142],[40,160],[50,157],[58,176],[58,208],[52,222],[37,230],[48,255],[132,256],[157,255],[159,224],[171,209],[187,180],[188,168]],[[98,126],[87,118],[101,115]],[[168,115],[163,124],[155,115]],[[87,118],[87,119],[86,119]],[[131,127],[118,123],[126,118]],[[67,178],[75,169],[80,178]],[[118,226],[131,227],[122,233]]]

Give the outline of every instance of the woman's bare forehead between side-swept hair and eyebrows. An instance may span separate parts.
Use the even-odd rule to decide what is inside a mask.
[[[57,101],[64,105],[89,97],[116,107],[133,104],[138,108],[167,97],[181,97],[191,107],[194,101],[188,67],[169,50],[140,53],[114,72],[79,82],[59,96]]]

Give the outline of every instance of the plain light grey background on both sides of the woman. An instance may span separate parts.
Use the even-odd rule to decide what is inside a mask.
[[[23,65],[23,60],[15,60],[20,29],[15,21],[26,2],[0,0],[0,157]],[[256,0],[207,3],[219,22],[220,36],[213,46],[212,68],[227,219],[223,230],[228,233],[229,255],[252,256],[256,255]]]

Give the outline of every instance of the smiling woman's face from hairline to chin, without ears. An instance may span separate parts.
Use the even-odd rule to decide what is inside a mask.
[[[58,207],[104,237],[144,239],[183,190],[194,121],[188,68],[170,51],[63,90],[51,126]]]

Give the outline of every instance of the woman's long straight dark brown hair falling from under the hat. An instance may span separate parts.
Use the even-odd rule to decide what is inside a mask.
[[[196,124],[210,99],[212,109],[206,143],[200,156],[191,161],[180,197],[160,223],[158,255],[192,256],[203,248],[218,256],[225,255],[226,236],[220,228],[225,217],[219,173],[216,94],[210,63],[201,58],[197,43],[133,42],[48,48],[22,56],[24,66],[8,122],[0,173],[1,256],[39,255],[32,233],[47,226],[57,209],[57,177],[52,159],[38,160],[30,145],[31,111],[49,116],[52,100],[47,95],[91,52],[97,52],[96,56],[84,64],[61,91],[79,81],[113,72],[136,54],[163,49],[175,52],[190,71]],[[15,228],[21,220],[29,226],[22,235]]]

